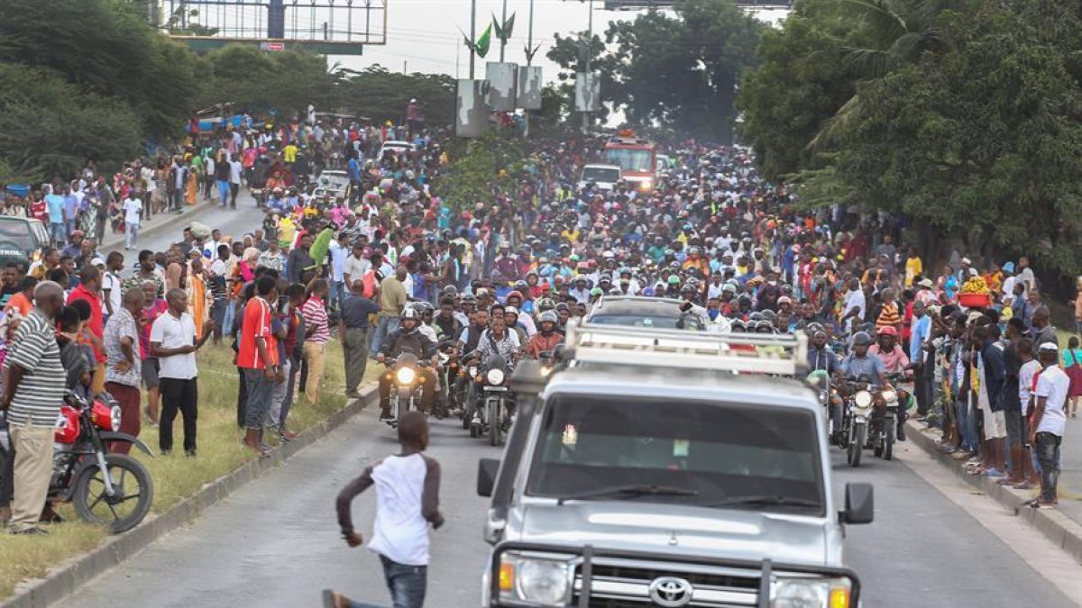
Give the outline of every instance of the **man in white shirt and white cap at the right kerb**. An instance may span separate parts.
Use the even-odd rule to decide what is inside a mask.
[[[1045,342],[1039,348],[1038,359],[1044,371],[1037,379],[1035,411],[1029,442],[1037,451],[1041,465],[1041,497],[1029,504],[1033,508],[1052,508],[1058,502],[1056,484],[1059,481],[1059,445],[1064,440],[1067,417],[1064,405],[1071,386],[1070,376],[1059,367],[1059,348],[1055,342]]]

